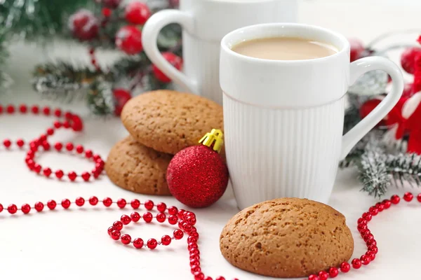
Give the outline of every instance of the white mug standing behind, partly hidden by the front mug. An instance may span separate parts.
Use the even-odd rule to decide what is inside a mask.
[[[265,22],[295,22],[297,0],[180,0],[180,10],[161,10],[142,29],[143,48],[151,61],[180,90],[222,104],[219,82],[220,41],[229,31]],[[182,26],[183,71],[166,61],[156,46],[159,31]]]

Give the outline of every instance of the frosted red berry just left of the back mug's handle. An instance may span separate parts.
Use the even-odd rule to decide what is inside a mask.
[[[134,26],[121,27],[116,33],[116,46],[128,55],[135,55],[143,50],[142,31]]]

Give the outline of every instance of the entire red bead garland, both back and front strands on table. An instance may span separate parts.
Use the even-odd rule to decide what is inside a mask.
[[[48,142],[48,137],[51,137],[55,130],[60,128],[70,128],[75,132],[79,132],[83,129],[83,123],[79,116],[76,116],[73,113],[66,112],[63,113],[60,109],[51,110],[48,106],[40,109],[39,106],[27,106],[22,104],[15,108],[13,105],[8,105],[6,107],[0,105],[0,113],[6,112],[8,114],[13,114],[15,112],[19,112],[22,114],[33,113],[34,115],[44,114],[44,116],[55,116],[56,118],[65,118],[63,121],[55,121],[53,127],[48,127],[46,130],[46,134],[41,134],[40,137],[25,143],[22,139],[17,139],[16,141],[11,141],[11,139],[4,139],[4,141],[0,142],[3,144],[4,148],[7,150],[11,149],[14,145],[17,146],[19,149],[24,148],[25,144],[28,146],[27,156],[25,158],[25,162],[27,167],[36,174],[40,174],[46,177],[55,176],[57,179],[68,178],[69,181],[76,181],[77,178],[81,178],[83,181],[89,181],[91,178],[97,179],[98,176],[103,171],[105,162],[102,160],[100,155],[95,155],[91,150],[87,150],[81,145],[75,145],[72,143],[62,144],[60,142],[51,145]],[[91,172],[82,172],[81,174],[76,174],[76,172],[68,172],[65,174],[61,169],[53,170],[50,167],[42,167],[35,161],[36,153],[41,151],[50,151],[51,147],[55,149],[55,151],[62,151],[65,148],[65,151],[69,153],[74,153],[76,155],[83,155],[86,159],[92,160],[95,163],[95,168]],[[414,195],[412,193],[405,193],[403,195],[403,200],[406,202],[411,202],[414,199]],[[421,194],[417,195],[417,201],[421,202]],[[335,278],[342,273],[347,273],[353,269],[360,269],[363,265],[369,265],[370,262],[375,260],[375,256],[378,252],[377,241],[375,241],[373,234],[368,229],[368,223],[373,219],[374,216],[382,213],[383,211],[389,209],[392,205],[399,204],[401,201],[401,197],[398,195],[393,195],[390,200],[383,200],[382,202],[378,202],[373,207],[370,207],[368,211],[364,212],[361,218],[357,221],[357,230],[360,232],[362,239],[366,242],[367,251],[360,258],[354,258],[351,263],[349,262],[342,262],[339,267],[330,267],[326,271],[321,271],[317,274],[309,275],[306,279],[308,280],[326,280],[330,278]],[[88,200],[85,200],[83,197],[78,197],[74,202],[71,202],[68,199],[64,199],[61,202],[57,203],[55,200],[48,200],[45,204],[43,202],[36,202],[34,207],[31,207],[29,204],[22,204],[20,208],[18,208],[15,204],[9,204],[7,208],[4,208],[2,204],[0,204],[0,212],[3,212],[4,209],[8,211],[9,214],[17,214],[18,211],[22,211],[22,214],[29,214],[31,211],[42,212],[44,209],[48,208],[50,210],[56,209],[58,205],[60,205],[63,209],[69,209],[72,204],[76,204],[77,207],[83,207],[84,205],[88,204],[95,206],[100,205],[100,202],[104,205],[104,207],[111,207],[112,204],[116,204],[117,207],[120,209],[124,209],[128,204],[133,209],[139,209],[140,206],[145,207],[148,211],[152,211],[154,207],[156,207],[156,211],[158,214],[155,216],[152,215],[150,212],[145,212],[144,214],[139,214],[137,211],[134,211],[130,216],[123,215],[121,216],[119,221],[115,221],[111,227],[108,228],[107,233],[108,235],[116,240],[120,241],[121,244],[129,245],[133,244],[135,248],[149,248],[154,250],[157,246],[168,246],[172,243],[173,240],[182,239],[185,234],[187,237],[187,248],[189,250],[189,263],[191,272],[194,276],[194,279],[200,280],[213,280],[210,276],[205,276],[201,271],[200,266],[200,251],[199,246],[197,244],[199,240],[199,233],[197,229],[194,227],[196,224],[196,216],[191,211],[185,210],[178,210],[177,207],[167,207],[165,203],[161,202],[158,204],[154,204],[151,200],[147,200],[144,203],[141,203],[139,200],[131,200],[128,203],[124,199],[119,199],[113,202],[113,200],[109,197],[105,197],[104,200],[98,200],[98,197],[90,197]],[[132,239],[130,235],[121,234],[121,230],[125,225],[129,223],[138,223],[140,220],[145,221],[145,223],[152,223],[153,219],[156,219],[159,223],[164,223],[168,221],[170,225],[175,225],[178,229],[173,231],[173,234],[170,235],[163,235],[161,239],[148,239],[144,241],[142,238],[135,238]],[[159,240],[159,241],[158,241]],[[215,280],[225,280],[225,277],[218,276]],[[232,279],[238,280],[238,279]]]

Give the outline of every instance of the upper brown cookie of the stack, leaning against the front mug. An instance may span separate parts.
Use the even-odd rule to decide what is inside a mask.
[[[172,90],[132,98],[124,106],[121,120],[136,141],[171,155],[196,145],[213,128],[224,127],[222,106],[195,94]]]

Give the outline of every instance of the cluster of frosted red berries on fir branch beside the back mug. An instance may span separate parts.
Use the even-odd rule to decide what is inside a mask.
[[[79,10],[69,18],[69,29],[79,41],[88,41],[90,43],[89,55],[91,64],[98,73],[103,73],[98,64],[98,59],[95,57],[95,47],[101,45],[104,41],[107,43],[111,41],[116,48],[127,55],[142,54],[142,25],[145,25],[152,12],[147,4],[141,1],[131,1],[124,7],[121,5],[121,0],[98,0],[96,3],[102,6],[100,14],[95,15],[89,10]],[[120,15],[123,15],[123,17]],[[116,29],[113,25],[118,26],[119,29],[115,31]],[[173,54],[173,52],[163,52],[162,55],[176,69],[180,70],[182,68],[181,57]],[[154,78],[160,83],[171,82],[171,78],[168,78],[154,64],[148,67],[146,71],[147,73],[137,73],[136,84],[128,89],[115,88],[112,90],[114,115],[120,116],[124,104],[132,97],[131,91],[137,84],[142,83],[143,76],[152,73]]]

